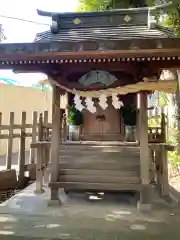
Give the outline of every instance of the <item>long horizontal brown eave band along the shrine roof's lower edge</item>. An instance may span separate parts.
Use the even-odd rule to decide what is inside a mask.
[[[180,59],[180,38],[0,44],[0,61],[9,63],[114,57],[133,59],[178,57]]]

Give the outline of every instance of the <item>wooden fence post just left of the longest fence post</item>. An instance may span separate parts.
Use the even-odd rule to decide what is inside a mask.
[[[6,157],[6,169],[11,169],[11,164],[12,164],[13,130],[14,130],[14,112],[10,112],[9,138],[8,138],[7,157]]]

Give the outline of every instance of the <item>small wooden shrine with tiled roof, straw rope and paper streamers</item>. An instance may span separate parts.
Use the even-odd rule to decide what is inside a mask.
[[[52,201],[58,201],[60,187],[137,190],[140,192],[140,203],[149,206],[151,195],[149,148],[152,148],[152,144],[148,144],[147,95],[154,90],[176,92],[176,79],[161,81],[159,76],[162,69],[180,66],[180,39],[175,37],[171,30],[156,23],[153,11],[149,8],[98,13],[53,13],[38,10],[39,15],[52,18],[50,30],[38,33],[33,43],[0,45],[1,69],[43,72],[48,75],[53,86],[49,184]],[[127,147],[123,156],[129,156],[129,159],[123,158],[124,161],[120,161],[122,152],[119,152],[119,157],[113,158],[114,167],[111,162],[106,164],[103,161],[93,163],[96,169],[93,169],[91,162],[89,165],[84,163],[81,166],[74,166],[76,159],[74,163],[69,162],[66,167],[63,164],[59,165],[59,162],[61,163],[59,106],[60,95],[64,93],[68,93],[69,99],[72,95],[79,96],[80,104],[84,107],[82,127],[84,141],[124,141],[124,119],[120,104],[123,103],[124,107],[133,105],[137,110],[139,94],[137,124],[139,144],[134,145],[137,154],[130,152],[128,145],[123,145],[123,149]],[[102,96],[105,100],[100,104]],[[108,106],[103,109],[105,103]],[[121,142],[118,144],[121,149]],[[159,147],[166,152],[162,142],[159,143]],[[153,149],[156,148],[157,144],[153,146]],[[106,154],[107,156],[109,155]],[[131,161],[133,156],[136,156],[137,164]],[[88,158],[88,154],[86,157]],[[123,165],[128,163],[128,160],[129,164]],[[167,167],[167,162],[165,165]],[[78,166],[81,173],[93,170],[93,179],[87,179],[87,174],[80,175],[80,171],[77,171]],[[68,177],[62,177],[65,172],[70,174],[71,171],[67,168],[76,172],[69,178],[70,180],[67,180]],[[119,180],[118,170],[119,177],[126,173],[125,178]],[[110,177],[107,178],[108,171],[113,181]],[[104,174],[101,180],[98,180],[96,172]],[[167,180],[167,175],[165,178]]]

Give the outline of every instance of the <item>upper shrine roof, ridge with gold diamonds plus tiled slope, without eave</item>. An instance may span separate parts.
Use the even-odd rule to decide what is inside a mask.
[[[52,18],[49,31],[38,33],[35,41],[100,41],[173,38],[173,32],[156,24],[150,8],[120,9],[92,13],[51,13],[37,10]]]

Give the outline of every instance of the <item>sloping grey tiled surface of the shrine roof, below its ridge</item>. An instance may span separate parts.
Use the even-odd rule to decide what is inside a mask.
[[[95,28],[74,28],[61,29],[53,34],[50,30],[36,35],[36,42],[61,41],[99,41],[99,40],[131,40],[131,39],[153,39],[171,38],[173,32],[164,27],[148,28],[145,26],[116,26],[116,27],[95,27]]]

